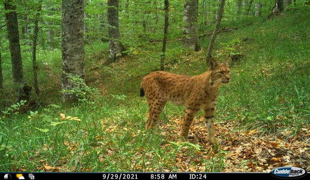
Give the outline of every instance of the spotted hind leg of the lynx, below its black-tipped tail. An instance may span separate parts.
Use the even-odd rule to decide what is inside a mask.
[[[160,113],[165,107],[166,102],[164,100],[160,99],[154,99],[154,100],[149,100],[149,117],[148,120],[146,121],[146,130],[153,129],[154,131],[156,130],[157,127],[157,121],[159,119]]]

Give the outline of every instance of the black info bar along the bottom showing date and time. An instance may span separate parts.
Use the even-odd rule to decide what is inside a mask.
[[[6,175],[8,174],[8,175]],[[19,174],[18,176],[16,176]],[[6,175],[6,176],[5,176]],[[46,179],[77,179],[77,180],[219,180],[228,178],[230,180],[240,178],[253,178],[265,180],[279,180],[270,173],[37,173],[37,172],[1,172],[0,180],[46,180]],[[5,179],[7,177],[7,179]],[[20,178],[23,180],[23,178]],[[310,175],[297,180],[309,180]]]

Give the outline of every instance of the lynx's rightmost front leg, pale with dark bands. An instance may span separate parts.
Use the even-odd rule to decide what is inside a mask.
[[[208,136],[209,136],[209,141],[212,144],[214,144],[214,143],[220,144],[221,140],[218,138],[215,138],[214,114],[215,114],[215,107],[205,110],[205,120],[206,120],[206,124],[207,124],[207,129],[208,129]]]

